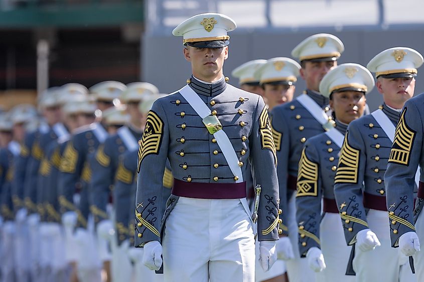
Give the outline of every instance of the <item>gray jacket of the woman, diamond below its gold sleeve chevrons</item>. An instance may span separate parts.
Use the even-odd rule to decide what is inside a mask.
[[[347,125],[336,120],[336,129],[345,135]],[[306,141],[302,151],[296,193],[296,219],[299,222],[301,256],[306,256],[311,247],[321,248],[321,203],[324,201],[324,206],[329,203],[336,205],[334,176],[339,152],[340,147],[325,133]],[[337,212],[337,208],[335,210]]]

